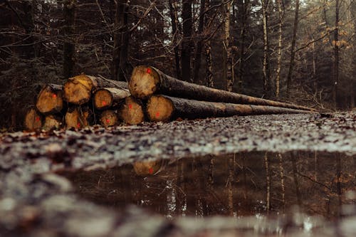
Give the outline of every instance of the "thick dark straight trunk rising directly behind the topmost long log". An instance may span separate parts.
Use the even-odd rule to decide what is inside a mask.
[[[182,21],[183,21],[183,40],[182,40],[182,80],[192,81],[191,77],[191,55],[192,55],[192,0],[182,0]]]

